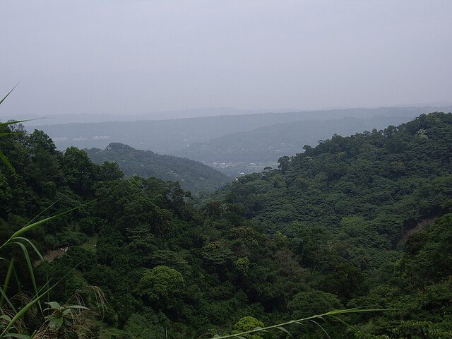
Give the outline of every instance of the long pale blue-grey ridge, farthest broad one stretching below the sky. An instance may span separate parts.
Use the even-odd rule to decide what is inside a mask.
[[[47,124],[37,126],[33,121],[25,123],[32,131],[42,129],[59,149],[73,145],[78,148],[105,148],[119,142],[133,148],[153,150],[161,154],[180,155],[192,143],[206,143],[230,133],[252,131],[263,126],[284,124],[302,120],[339,119],[357,117],[367,119],[375,115],[404,117],[405,121],[420,114],[446,111],[436,107],[381,107],[377,109],[331,109],[323,111],[262,113],[172,119],[161,121],[114,121],[87,124]],[[41,121],[40,121],[41,122]]]

